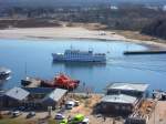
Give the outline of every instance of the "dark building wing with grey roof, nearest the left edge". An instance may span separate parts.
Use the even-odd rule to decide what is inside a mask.
[[[21,87],[13,87],[4,93],[4,103],[6,106],[19,106],[27,101],[29,92]]]

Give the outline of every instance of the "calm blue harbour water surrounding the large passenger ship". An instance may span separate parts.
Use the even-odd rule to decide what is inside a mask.
[[[52,63],[51,53],[74,49],[104,52],[106,64]],[[12,70],[12,78],[0,83],[0,89],[20,85],[27,75],[52,79],[59,72],[79,79],[95,92],[102,92],[110,82],[149,83],[152,89],[166,90],[166,55],[124,56],[125,50],[146,50],[126,42],[91,40],[0,40],[0,66]],[[27,68],[25,68],[27,66]]]

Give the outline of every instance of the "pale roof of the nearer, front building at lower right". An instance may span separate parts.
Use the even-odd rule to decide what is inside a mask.
[[[134,104],[137,101],[136,97],[125,95],[125,94],[117,94],[117,95],[106,95],[102,99],[102,102],[107,103],[126,103],[126,104]]]

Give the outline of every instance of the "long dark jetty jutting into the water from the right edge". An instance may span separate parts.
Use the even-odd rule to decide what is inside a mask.
[[[124,51],[124,55],[166,54],[166,51]]]

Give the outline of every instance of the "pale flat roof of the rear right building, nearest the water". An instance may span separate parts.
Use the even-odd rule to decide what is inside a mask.
[[[107,90],[124,90],[124,91],[138,91],[145,92],[148,87],[148,84],[145,83],[111,83],[106,89]]]

